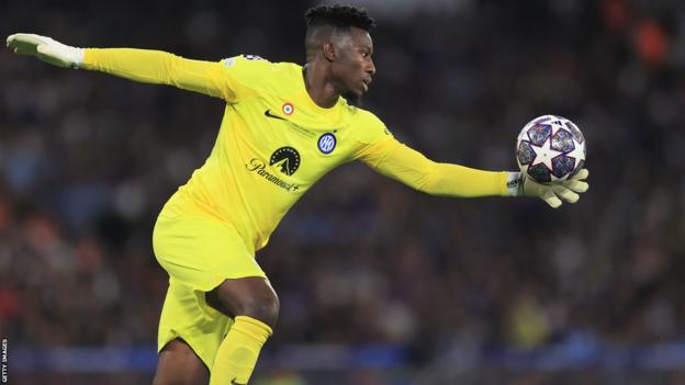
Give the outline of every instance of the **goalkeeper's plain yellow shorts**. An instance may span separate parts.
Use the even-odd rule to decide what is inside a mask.
[[[180,338],[211,370],[233,320],[209,306],[205,293],[226,279],[267,276],[229,224],[170,212],[162,210],[153,233],[157,261],[169,273],[157,349]]]

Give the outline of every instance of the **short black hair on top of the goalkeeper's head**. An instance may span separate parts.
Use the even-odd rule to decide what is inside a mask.
[[[373,19],[369,18],[367,10],[350,5],[316,5],[304,13],[307,31],[315,26],[329,25],[337,29],[356,26],[369,32],[375,26]]]

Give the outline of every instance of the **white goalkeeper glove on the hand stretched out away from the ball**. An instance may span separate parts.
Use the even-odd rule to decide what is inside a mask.
[[[79,68],[83,61],[83,48],[70,47],[47,36],[16,33],[8,36],[8,47],[15,54],[31,55],[63,68]]]

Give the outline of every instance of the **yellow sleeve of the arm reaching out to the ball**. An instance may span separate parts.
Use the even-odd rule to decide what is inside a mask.
[[[383,175],[431,195],[508,196],[506,171],[438,163],[391,137],[370,146],[361,159]]]

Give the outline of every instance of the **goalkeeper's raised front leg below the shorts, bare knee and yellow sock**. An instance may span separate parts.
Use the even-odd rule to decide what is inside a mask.
[[[235,317],[216,353],[210,385],[247,384],[278,318],[276,292],[269,281],[252,276],[225,280],[206,298],[211,306]]]

